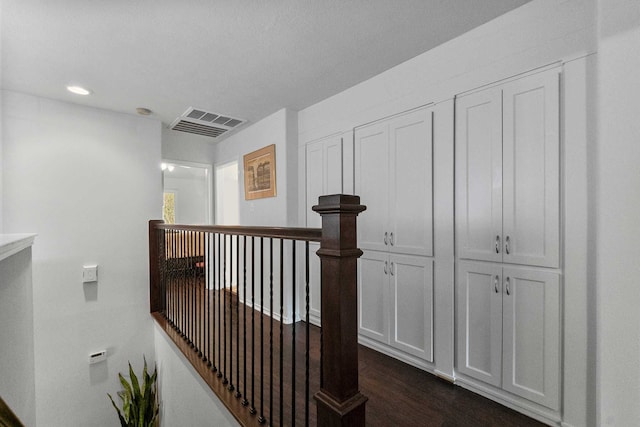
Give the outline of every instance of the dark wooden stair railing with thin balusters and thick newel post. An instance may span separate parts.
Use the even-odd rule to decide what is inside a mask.
[[[365,207],[357,196],[330,195],[313,210],[322,216],[321,230],[149,222],[153,318],[242,425],[365,425],[356,281],[362,255],[356,217]],[[320,243],[321,329],[309,324],[309,242]],[[301,245],[305,266],[299,274]],[[287,263],[285,249],[292,256]],[[305,311],[296,314],[294,303],[292,315],[306,321],[302,328],[281,322],[288,274],[292,301],[298,276],[305,277]],[[301,382],[304,391],[297,387]],[[309,414],[310,388],[317,390],[315,417]],[[299,401],[304,411],[296,412]]]

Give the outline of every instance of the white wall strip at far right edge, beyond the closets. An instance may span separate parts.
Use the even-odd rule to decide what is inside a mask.
[[[599,0],[598,425],[640,425],[640,3]]]

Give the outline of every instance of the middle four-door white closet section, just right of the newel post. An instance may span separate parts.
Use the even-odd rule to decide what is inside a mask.
[[[361,336],[433,361],[433,115],[420,108],[354,132]]]

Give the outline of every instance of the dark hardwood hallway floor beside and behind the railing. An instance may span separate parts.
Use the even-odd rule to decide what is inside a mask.
[[[309,327],[309,400],[307,401],[304,386],[306,324],[298,322],[295,325],[294,369],[291,351],[294,325],[282,325],[281,340],[281,325],[278,321],[258,311],[254,312],[250,307],[247,307],[245,312],[245,306],[242,303],[238,304],[232,292],[222,293],[222,295],[220,292],[215,294],[212,291],[206,292],[201,280],[194,282],[195,286],[185,286],[187,283],[182,283],[170,288],[173,296],[169,301],[175,303],[178,301],[176,295],[184,293],[184,300],[188,302],[184,308],[191,311],[188,316],[181,315],[181,319],[187,320],[186,323],[183,322],[184,325],[191,323],[187,329],[194,330],[199,337],[194,340],[195,346],[187,343],[161,315],[156,313],[154,318],[164,327],[234,416],[244,425],[260,425],[258,417],[261,414],[267,420],[266,425],[271,423],[272,425],[293,425],[293,419],[296,425],[305,425],[305,402],[308,402],[309,425],[317,425],[313,394],[320,387],[320,328]],[[176,290],[179,292],[175,293]],[[226,317],[227,328],[233,331],[232,335],[227,335],[227,340],[224,342],[220,340],[216,342],[215,337],[204,338],[206,335],[211,336],[214,331],[211,322],[208,326],[193,328],[194,321],[189,321],[189,319],[197,319],[198,313],[206,312],[207,307],[212,308],[211,301],[218,304],[218,319],[220,319],[219,312],[224,312],[226,316],[222,316],[222,320]],[[219,309],[220,302],[227,303],[223,305],[222,310]],[[254,315],[253,323],[252,314]],[[262,339],[260,339],[261,323]],[[253,345],[252,324],[255,326]],[[247,341],[244,340],[245,326]],[[216,326],[215,333],[220,336],[219,326]],[[285,345],[281,345],[281,342]],[[198,354],[198,347],[201,347],[199,350],[203,353],[202,355]],[[280,399],[280,349],[284,349],[282,402]],[[260,354],[263,357],[262,369]],[[270,354],[273,354],[273,364],[270,362]],[[204,356],[213,359],[213,365],[217,366],[215,372],[212,366],[203,360]],[[251,368],[252,365],[253,368]],[[220,371],[224,371],[225,375],[219,377]],[[369,398],[366,405],[368,426],[526,427],[543,425],[489,399],[364,346],[359,347],[359,371],[360,390]],[[233,390],[229,390],[228,383],[223,383],[226,377],[230,377],[230,382],[234,385]],[[295,378],[295,390],[291,387],[292,378]],[[262,407],[260,406],[261,395],[264,395]],[[269,400],[269,396],[273,398]],[[246,406],[242,405],[244,398],[249,400]],[[295,404],[292,405],[292,402]],[[249,413],[249,408],[253,406],[256,407],[257,414]],[[280,413],[282,413],[282,423],[280,423]]]

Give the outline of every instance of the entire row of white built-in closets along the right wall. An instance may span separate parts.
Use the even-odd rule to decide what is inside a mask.
[[[562,397],[560,76],[560,67],[523,74],[304,151],[307,226],[320,226],[311,207],[322,194],[353,189],[367,206],[358,216],[360,342],[553,421]],[[311,268],[319,323],[319,261]]]

